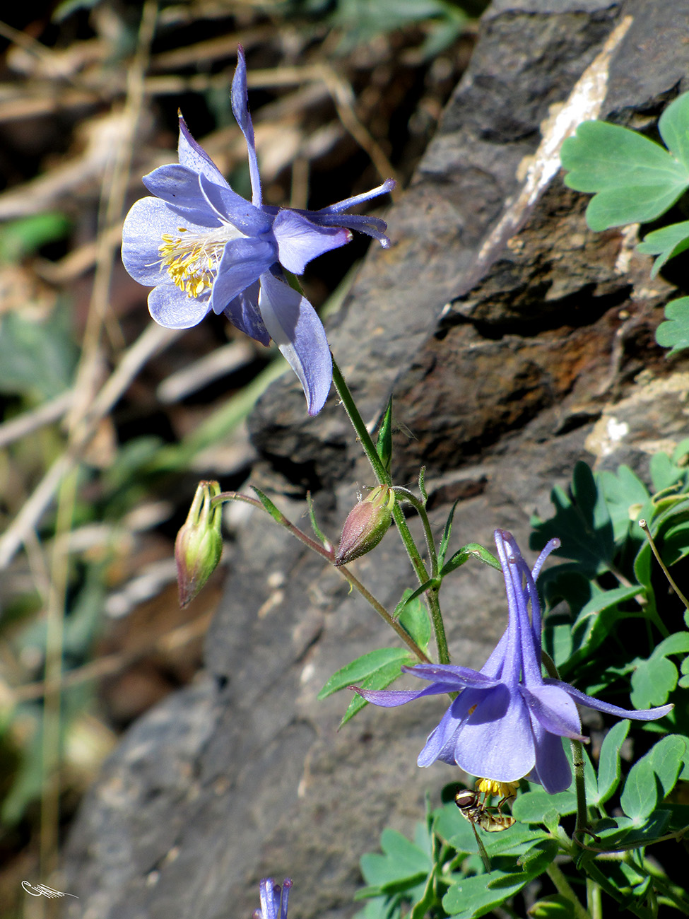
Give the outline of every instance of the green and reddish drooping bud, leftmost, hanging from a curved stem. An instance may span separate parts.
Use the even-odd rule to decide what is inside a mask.
[[[222,505],[210,503],[216,494],[220,494],[219,482],[198,482],[189,516],[175,539],[180,607],[191,603],[220,562]]]

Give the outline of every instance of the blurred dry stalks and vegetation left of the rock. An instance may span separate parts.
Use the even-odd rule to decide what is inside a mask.
[[[482,0],[15,3],[0,23],[0,919],[36,915],[75,808],[130,722],[201,664],[223,572],[184,611],[173,546],[196,482],[243,485],[244,418],[287,369],[211,317],[155,326],[119,261],[176,113],[249,190],[246,51],[265,200],[321,208],[410,180]],[[399,191],[398,191],[399,193]],[[249,196],[250,197],[250,196]],[[336,310],[367,238],[304,287]],[[225,571],[232,566],[232,515]]]

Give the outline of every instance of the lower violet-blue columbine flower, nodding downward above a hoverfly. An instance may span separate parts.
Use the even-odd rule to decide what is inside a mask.
[[[569,683],[541,674],[541,609],[536,579],[559,546],[551,539],[533,572],[522,558],[511,533],[495,530],[503,566],[509,622],[503,637],[480,671],[451,664],[417,664],[403,669],[430,680],[418,692],[356,689],[374,705],[394,707],[422,696],[458,692],[419,754],[419,766],[436,759],[460,766],[472,776],[515,782],[528,776],[555,794],[570,787],[571,772],[560,737],[582,738],[576,703],[618,718],[649,721],[672,709],[620,709],[586,696]],[[531,602],[531,620],[528,604]],[[352,687],[356,688],[356,687]]]

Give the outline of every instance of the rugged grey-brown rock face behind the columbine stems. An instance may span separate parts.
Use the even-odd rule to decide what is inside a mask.
[[[392,247],[371,249],[329,327],[364,417],[393,392],[414,435],[396,435],[396,481],[426,465],[438,529],[461,499],[457,545],[490,544],[501,526],[525,549],[529,514],[548,515],[550,488],[577,459],[646,475],[647,452],[685,434],[686,364],[653,339],[672,288],[649,280],[630,233],[590,233],[586,199],[534,164],[547,158],[553,107],[592,65],[600,98],[590,89],[588,104],[652,130],[687,88],[688,30],[689,0],[672,16],[666,0],[495,0],[389,212]],[[621,440],[606,434],[611,419],[627,423]],[[297,521],[311,489],[335,537],[356,483],[372,483],[335,399],[307,419],[299,385],[280,381],[252,432],[255,481],[282,492]],[[411,833],[424,791],[437,803],[457,778],[415,765],[442,700],[366,709],[339,733],[348,699],[316,701],[335,669],[395,643],[337,573],[257,513],[238,524],[231,569],[207,675],[134,725],[85,800],[62,888],[80,900],[67,916],[247,916],[266,875],[294,879],[299,916],[351,915],[360,855],[386,824]],[[355,569],[389,607],[412,585],[394,531]],[[503,586],[468,569],[444,585],[443,607],[453,660],[480,666],[503,630]]]

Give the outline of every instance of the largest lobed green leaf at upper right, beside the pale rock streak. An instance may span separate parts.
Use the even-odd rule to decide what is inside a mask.
[[[674,139],[674,136],[673,136]],[[689,165],[636,131],[584,121],[562,144],[565,184],[596,192],[586,209],[592,230],[660,217],[689,187]]]

